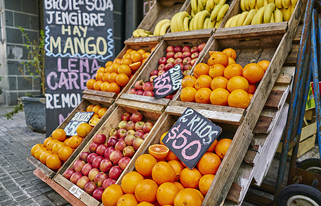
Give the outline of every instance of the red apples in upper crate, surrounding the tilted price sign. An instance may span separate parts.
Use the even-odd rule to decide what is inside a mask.
[[[195,47],[189,47],[188,45],[185,45],[184,47],[168,46],[166,48],[166,57],[164,56],[158,60],[158,69],[154,69],[150,72],[149,81],[144,82],[143,80],[139,80],[135,82],[134,88],[128,90],[127,93],[154,97],[154,78],[160,76],[176,65],[180,65],[183,76],[187,76],[205,45],[206,43],[202,43]],[[167,95],[165,98],[172,100],[174,95]]]

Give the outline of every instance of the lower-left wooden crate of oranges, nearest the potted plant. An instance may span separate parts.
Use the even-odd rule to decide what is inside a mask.
[[[60,170],[64,170],[65,168],[67,168],[69,166],[71,161],[73,161],[75,156],[77,156],[79,154],[80,150],[82,150],[82,148],[84,148],[84,146],[87,144],[87,142],[91,139],[91,137],[93,137],[93,135],[96,133],[96,131],[100,128],[100,126],[102,126],[102,124],[105,122],[105,120],[109,117],[109,115],[112,113],[112,111],[114,111],[114,109],[116,107],[116,104],[110,104],[109,102],[104,102],[103,98],[102,98],[102,100],[91,100],[91,99],[86,99],[86,96],[84,95],[84,97],[82,98],[82,102],[80,102],[80,104],[76,108],[74,108],[73,111],[71,111],[71,113],[68,115],[68,117],[66,119],[64,119],[64,122],[62,122],[62,124],[60,124],[60,126],[58,126],[58,128],[64,129],[67,126],[67,124],[70,122],[73,115],[75,115],[75,113],[80,112],[80,111],[86,111],[86,108],[89,104],[95,104],[95,105],[100,105],[102,107],[107,107],[108,110],[106,111],[104,116],[99,120],[99,122],[93,127],[91,132],[88,133],[88,135],[83,139],[80,146],[78,146],[78,148],[75,149],[75,151],[73,152],[71,157],[69,157],[69,159],[67,159],[67,161],[65,161],[63,163]],[[31,155],[29,157],[27,157],[27,160],[30,163],[32,163],[38,170],[40,170],[40,172],[43,172],[43,174],[45,174],[47,177],[49,177],[49,179],[53,179],[53,176],[56,175],[56,172],[60,171],[60,170],[53,171],[53,170],[47,168],[46,165],[44,165],[43,163],[41,163],[40,161],[38,161],[36,158],[32,157]]]

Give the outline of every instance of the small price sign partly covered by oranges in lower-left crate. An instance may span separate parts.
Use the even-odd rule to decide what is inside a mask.
[[[77,126],[82,123],[88,123],[91,117],[93,116],[94,112],[78,112],[73,115],[70,122],[64,128],[66,135],[73,136],[77,135],[76,130]]]

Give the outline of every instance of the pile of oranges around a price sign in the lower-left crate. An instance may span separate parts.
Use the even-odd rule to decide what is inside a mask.
[[[106,113],[107,108],[90,104],[86,111],[95,112],[91,119],[99,119]],[[43,144],[36,144],[32,147],[31,154],[51,170],[58,170],[62,163],[67,161],[73,151],[78,148],[92,128],[93,126],[90,124],[82,123],[77,127],[77,135],[71,137],[67,136],[62,128],[53,130],[51,137],[47,137]]]

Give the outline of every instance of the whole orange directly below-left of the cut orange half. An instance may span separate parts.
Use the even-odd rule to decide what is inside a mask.
[[[143,154],[135,161],[135,169],[143,176],[151,176],[152,169],[156,165],[157,160],[150,154]]]

